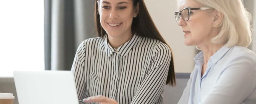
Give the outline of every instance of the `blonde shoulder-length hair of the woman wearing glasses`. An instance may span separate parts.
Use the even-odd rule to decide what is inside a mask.
[[[244,46],[251,44],[251,14],[246,11],[242,0],[195,0],[205,7],[223,13],[220,33],[212,38],[212,43],[225,46]]]

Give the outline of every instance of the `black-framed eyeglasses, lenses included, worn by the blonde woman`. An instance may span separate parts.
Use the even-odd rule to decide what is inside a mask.
[[[182,18],[184,21],[188,21],[189,20],[190,10],[209,10],[209,9],[212,9],[212,8],[207,8],[207,7],[184,8],[180,12],[179,11],[175,12],[174,15],[175,15],[176,22],[178,23],[180,18]]]

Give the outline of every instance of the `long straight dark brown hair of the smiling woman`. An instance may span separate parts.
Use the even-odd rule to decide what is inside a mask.
[[[143,0],[132,0],[134,8],[139,3],[139,14],[136,18],[133,18],[132,21],[132,33],[136,33],[139,36],[149,37],[152,39],[157,39],[165,44],[165,40],[160,35],[157,27],[153,23],[151,16],[148,13],[147,7]],[[99,20],[99,12],[98,12],[98,2],[95,0],[95,28],[98,36],[103,37],[106,34],[106,31],[101,27]],[[170,47],[170,46],[169,46]],[[170,48],[171,49],[171,48]],[[171,52],[172,53],[172,52]],[[175,72],[174,72],[174,63],[173,63],[173,54],[171,55],[171,63],[168,70],[168,76],[166,85],[170,84],[171,86],[176,85],[175,80]]]

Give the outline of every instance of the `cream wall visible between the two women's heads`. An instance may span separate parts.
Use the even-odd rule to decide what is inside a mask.
[[[172,48],[175,72],[192,72],[196,49],[184,45],[184,33],[174,17],[174,12],[178,10],[176,0],[144,1],[158,30]]]

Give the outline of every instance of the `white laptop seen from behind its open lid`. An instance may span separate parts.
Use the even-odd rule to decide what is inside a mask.
[[[19,104],[78,104],[70,71],[15,71]]]

